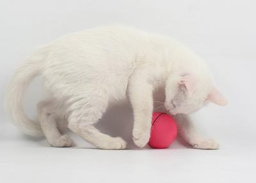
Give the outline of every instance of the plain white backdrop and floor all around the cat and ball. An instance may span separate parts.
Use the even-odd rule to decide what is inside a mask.
[[[97,150],[80,138],[74,148],[51,148],[24,136],[0,110],[1,182],[255,182],[255,1],[0,1],[0,103],[15,68],[55,38],[109,24],[169,35],[200,54],[229,102],[195,115],[220,150],[193,150],[179,141],[166,150]],[[26,96],[36,116],[40,80]],[[100,128],[131,141],[129,106],[108,111]]]

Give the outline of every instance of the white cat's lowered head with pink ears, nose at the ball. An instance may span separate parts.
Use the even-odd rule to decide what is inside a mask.
[[[164,107],[172,115],[193,113],[209,102],[220,106],[227,104],[207,76],[182,74],[170,77],[166,83],[165,95]]]

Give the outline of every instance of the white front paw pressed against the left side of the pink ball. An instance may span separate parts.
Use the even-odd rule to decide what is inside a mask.
[[[136,146],[138,147],[145,147],[147,145],[149,138],[150,138],[150,131],[139,131],[137,129],[134,129],[132,131],[132,139]]]

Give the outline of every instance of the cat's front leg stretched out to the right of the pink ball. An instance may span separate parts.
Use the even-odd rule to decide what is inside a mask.
[[[199,149],[218,149],[219,144],[214,139],[207,139],[199,134],[186,115],[173,116],[178,126],[179,136],[191,147]]]

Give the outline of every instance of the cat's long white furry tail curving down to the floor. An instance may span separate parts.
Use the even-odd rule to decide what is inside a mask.
[[[24,61],[12,77],[6,93],[5,106],[12,115],[13,122],[31,136],[42,136],[43,132],[40,123],[29,119],[24,113],[22,99],[29,83],[40,74],[45,54],[46,48],[40,49]]]

